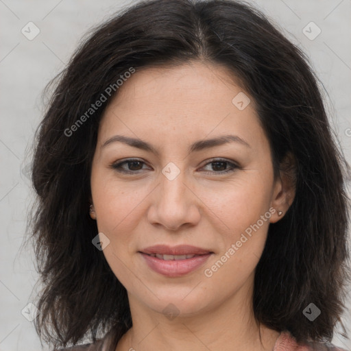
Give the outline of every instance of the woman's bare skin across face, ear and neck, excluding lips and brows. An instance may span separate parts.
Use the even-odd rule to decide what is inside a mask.
[[[104,112],[91,173],[91,217],[110,240],[103,252],[130,301],[133,326],[117,351],[274,348],[279,333],[262,324],[260,329],[253,316],[254,271],[269,223],[284,216],[294,192],[289,178],[274,180],[254,104],[244,110],[232,104],[242,91],[219,65],[147,68],[124,82]],[[121,142],[102,146],[116,134],[140,138],[158,155]],[[188,152],[195,141],[226,134],[250,146],[231,142]],[[128,158],[144,162],[123,165],[135,174],[110,167]],[[230,164],[216,168],[212,158],[239,167],[220,173]],[[180,171],[173,180],[162,173],[169,162]],[[269,208],[274,214],[213,276],[205,276],[204,269]],[[195,245],[214,253],[199,269],[169,278],[150,269],[138,253],[155,244]],[[162,312],[170,303],[178,313],[174,319]]]

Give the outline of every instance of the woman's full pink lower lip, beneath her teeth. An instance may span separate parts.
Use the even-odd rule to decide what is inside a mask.
[[[160,258],[149,256],[141,252],[141,255],[145,258],[147,265],[156,271],[167,277],[180,277],[185,274],[195,271],[195,269],[202,266],[210,257],[209,254],[198,255],[192,258],[186,258],[185,260],[174,260],[165,261]]]

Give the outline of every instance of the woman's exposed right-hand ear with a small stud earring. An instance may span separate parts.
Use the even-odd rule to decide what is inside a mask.
[[[296,192],[296,160],[291,152],[288,152],[280,162],[280,171],[274,184],[274,192],[271,207],[276,212],[271,215],[270,223],[276,223],[284,217],[293,203]]]

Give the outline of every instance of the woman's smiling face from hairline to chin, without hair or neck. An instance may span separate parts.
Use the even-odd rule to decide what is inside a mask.
[[[131,304],[186,315],[252,296],[287,208],[253,102],[229,76],[200,62],[136,71],[104,113],[92,216]]]

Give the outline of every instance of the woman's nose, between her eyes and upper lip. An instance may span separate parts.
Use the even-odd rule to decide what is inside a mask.
[[[153,191],[152,204],[147,213],[149,223],[175,231],[199,222],[201,201],[190,184],[186,184],[185,178],[183,171],[173,180],[160,175],[160,184]]]

